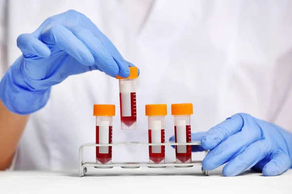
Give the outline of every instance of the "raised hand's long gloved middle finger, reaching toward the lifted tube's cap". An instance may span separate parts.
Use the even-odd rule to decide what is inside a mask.
[[[73,34],[80,39],[91,51],[95,64],[107,75],[116,76],[119,73],[119,66],[112,58],[110,52],[102,45],[90,30],[80,26],[67,27]]]

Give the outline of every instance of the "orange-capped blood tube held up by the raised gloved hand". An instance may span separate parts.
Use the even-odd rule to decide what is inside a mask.
[[[117,76],[120,84],[121,129],[136,129],[136,80],[138,68],[129,67],[128,78]]]

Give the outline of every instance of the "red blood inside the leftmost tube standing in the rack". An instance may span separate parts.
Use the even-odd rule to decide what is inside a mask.
[[[112,143],[112,126],[109,126],[109,144]],[[96,126],[96,144],[99,144],[99,126]],[[111,146],[109,146],[109,153],[99,153],[99,146],[96,147],[96,160],[102,164],[106,164],[111,160]]]

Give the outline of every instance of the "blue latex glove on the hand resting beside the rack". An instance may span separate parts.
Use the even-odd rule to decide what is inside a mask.
[[[292,133],[249,114],[235,114],[204,134],[192,134],[192,140],[200,138],[201,146],[192,150],[211,150],[203,168],[214,170],[227,162],[224,176],[236,176],[250,168],[264,176],[277,176],[292,167]]]

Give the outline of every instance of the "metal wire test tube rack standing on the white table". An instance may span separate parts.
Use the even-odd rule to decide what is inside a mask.
[[[147,162],[122,162],[122,163],[111,163],[111,164],[98,164],[95,162],[85,162],[83,163],[83,148],[84,147],[97,147],[97,146],[187,146],[187,145],[201,145],[200,142],[191,142],[191,143],[143,143],[143,142],[116,142],[112,144],[84,144],[79,148],[79,176],[83,177],[87,172],[87,167],[95,168],[112,168],[114,166],[119,166],[122,168],[139,168],[140,166],[147,166],[149,168],[163,168],[166,166],[175,166],[175,167],[192,167],[202,165],[202,161],[192,161],[191,163],[176,163],[176,162],[165,162],[161,164],[147,163]],[[210,150],[205,150],[205,155]],[[205,176],[209,176],[210,171],[204,170],[201,167],[201,170]]]

